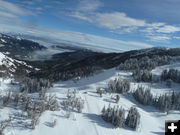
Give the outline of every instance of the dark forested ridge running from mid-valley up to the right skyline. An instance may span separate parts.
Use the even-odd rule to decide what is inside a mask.
[[[30,76],[48,76],[53,80],[68,80],[76,77],[85,77],[93,74],[96,71],[117,67],[129,59],[139,60],[146,57],[147,59],[156,58],[157,60],[161,60],[162,58],[164,59],[164,56],[168,56],[168,58],[180,56],[180,49],[156,47],[142,50],[133,50],[124,53],[89,53],[86,51],[79,53],[79,51],[76,51],[73,53],[66,52],[65,54],[67,57],[64,57],[64,54],[61,54],[59,56],[63,57],[59,60],[56,58],[55,60],[51,61],[38,62],[37,66],[42,67],[43,65],[42,70],[31,73]],[[85,54],[87,54],[86,57],[81,57],[85,56]],[[32,62],[31,64],[36,65],[35,63],[37,62]]]

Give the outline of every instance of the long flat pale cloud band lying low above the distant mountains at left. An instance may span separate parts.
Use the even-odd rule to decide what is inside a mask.
[[[48,39],[48,41],[56,43],[69,43],[75,46],[85,47],[89,49],[105,51],[105,52],[120,52],[133,49],[149,48],[153,45],[137,41],[125,41],[84,34],[80,32],[64,32],[41,27],[22,28],[22,27],[0,27],[0,32],[20,33],[23,35],[31,35]],[[40,38],[40,39],[41,39]]]

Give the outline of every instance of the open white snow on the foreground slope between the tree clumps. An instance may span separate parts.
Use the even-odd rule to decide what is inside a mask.
[[[162,67],[159,67],[153,70],[153,73],[159,72],[161,69]],[[165,120],[180,119],[180,112],[170,112],[169,115],[166,115],[154,107],[139,104],[130,94],[119,94],[120,101],[117,104],[111,99],[114,94],[103,94],[103,97],[100,97],[96,93],[97,87],[105,88],[110,79],[118,76],[131,81],[132,91],[137,87],[138,83],[133,81],[131,73],[117,71],[115,69],[109,69],[100,74],[83,78],[76,83],[73,81],[65,81],[54,84],[54,87],[49,89],[48,93],[56,94],[61,110],[55,112],[46,111],[43,113],[40,118],[40,123],[35,130],[22,127],[18,122],[13,122],[11,126],[6,129],[6,135],[164,135]],[[155,94],[169,92],[170,90],[161,82],[156,84],[140,84],[151,87]],[[3,85],[5,89],[6,85],[8,84]],[[178,89],[179,86],[179,84],[176,84],[173,88],[176,87]],[[66,111],[62,106],[68,89],[78,90],[78,96],[84,100],[85,105],[82,113],[74,111],[69,119],[66,118]],[[110,123],[106,123],[100,115],[103,106],[108,106],[109,104],[111,104],[111,106],[122,106],[126,110],[126,115],[130,107],[135,105],[141,114],[140,128],[137,131],[133,131],[129,128],[114,128]],[[17,113],[18,111],[20,110],[14,110],[8,107],[4,108],[0,111],[0,118],[4,119],[7,114]],[[57,120],[57,124],[52,128],[50,124],[54,120]]]

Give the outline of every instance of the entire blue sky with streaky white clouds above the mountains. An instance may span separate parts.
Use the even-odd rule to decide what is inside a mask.
[[[180,47],[180,0],[0,0],[0,32],[113,50]]]

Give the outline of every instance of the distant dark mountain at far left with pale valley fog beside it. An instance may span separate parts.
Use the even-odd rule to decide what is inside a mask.
[[[21,35],[21,37],[24,36]],[[44,60],[56,53],[79,50],[87,49],[68,43],[49,42],[48,39],[33,38],[33,40],[30,40],[0,33],[0,52],[20,60],[35,60],[36,56],[43,57]]]

